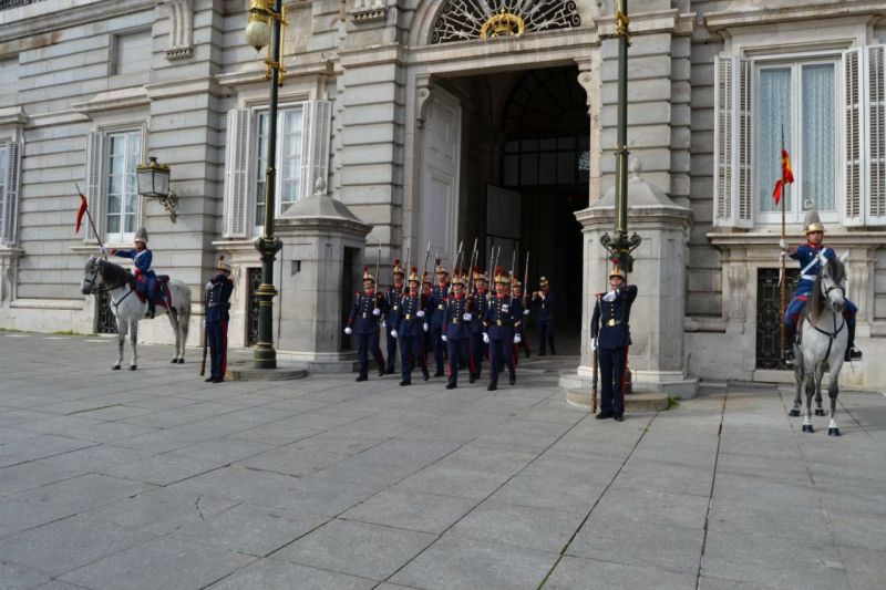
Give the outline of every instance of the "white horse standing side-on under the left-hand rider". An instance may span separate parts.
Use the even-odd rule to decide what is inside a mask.
[[[130,271],[105,258],[90,257],[80,290],[83,294],[96,293],[102,284],[111,294],[111,311],[117,321],[117,362],[112,369],[119,370],[123,362],[123,342],[126,340],[126,333],[130,332],[132,343],[130,371],[135,371],[138,364],[138,353],[135,348],[138,341],[138,320],[144,319],[147,302],[142,302],[135,294],[134,277]],[[157,306],[156,312],[168,313],[169,323],[175,332],[175,355],[172,362],[184,363],[185,343],[190,321],[190,288],[176,279],[169,279],[168,284],[172,294],[169,309]],[[157,289],[161,288],[158,281]]]

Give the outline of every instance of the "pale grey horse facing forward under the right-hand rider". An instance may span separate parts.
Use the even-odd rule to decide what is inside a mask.
[[[812,427],[812,397],[816,395],[818,408],[816,415],[824,415],[821,410],[822,380],[825,365],[831,375],[827,395],[831,397],[831,422],[827,426],[830,436],[839,436],[836,422],[837,379],[843,366],[848,333],[843,308],[846,304],[846,269],[842,260],[827,259],[820,255],[821,272],[815,278],[812,297],[800,322],[800,342],[794,344],[796,364],[796,396],[792,416],[800,415],[801,390],[806,391],[806,417],[803,420],[803,432],[814,432]]]

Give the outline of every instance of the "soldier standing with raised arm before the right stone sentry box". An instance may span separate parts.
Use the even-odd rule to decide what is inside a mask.
[[[600,413],[597,418],[625,420],[625,364],[630,345],[630,307],[637,299],[637,286],[625,284],[625,271],[609,272],[608,293],[597,293],[590,319],[590,348],[600,362]]]

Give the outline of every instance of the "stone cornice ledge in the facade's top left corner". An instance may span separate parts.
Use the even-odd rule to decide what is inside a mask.
[[[45,0],[0,11],[0,39],[30,38],[121,14],[154,10],[156,0]]]

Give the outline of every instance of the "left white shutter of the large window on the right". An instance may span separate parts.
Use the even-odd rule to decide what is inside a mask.
[[[714,62],[714,226],[751,227],[751,63],[734,55]]]

